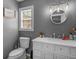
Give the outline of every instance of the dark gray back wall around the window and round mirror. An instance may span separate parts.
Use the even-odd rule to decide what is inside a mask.
[[[37,37],[38,32],[44,32],[45,35],[55,33],[68,33],[72,26],[76,26],[76,1],[71,0],[69,3],[67,21],[63,24],[52,24],[49,18],[48,6],[56,2],[66,2],[67,0],[25,0],[19,3],[19,8],[34,5],[34,31],[19,31],[19,36],[28,36],[31,39]]]

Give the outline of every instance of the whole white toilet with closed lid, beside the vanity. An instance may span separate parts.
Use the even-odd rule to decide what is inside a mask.
[[[29,48],[29,37],[20,37],[20,47],[12,50],[7,59],[26,59],[26,49]]]

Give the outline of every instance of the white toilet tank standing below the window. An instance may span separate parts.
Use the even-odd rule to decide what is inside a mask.
[[[21,48],[29,48],[29,42],[30,38],[29,37],[20,37],[20,47]]]

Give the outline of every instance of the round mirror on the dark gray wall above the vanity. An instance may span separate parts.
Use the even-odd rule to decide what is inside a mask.
[[[61,24],[67,19],[65,12],[63,10],[55,10],[51,15],[51,21],[54,24]]]

